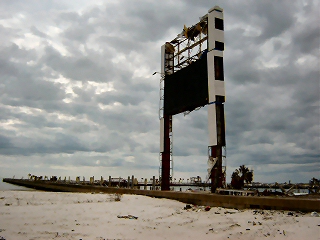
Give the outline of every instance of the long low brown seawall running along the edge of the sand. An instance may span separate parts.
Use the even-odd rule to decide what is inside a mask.
[[[95,185],[75,185],[49,181],[18,180],[9,178],[4,178],[3,182],[45,191],[137,194],[149,197],[174,199],[189,204],[215,207],[320,212],[320,199],[295,197],[228,196],[201,192],[190,193],[173,191],[151,191],[128,188],[103,187]]]

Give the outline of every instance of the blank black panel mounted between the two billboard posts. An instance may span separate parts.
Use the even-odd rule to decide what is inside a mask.
[[[175,115],[208,104],[207,57],[165,76],[164,114]]]

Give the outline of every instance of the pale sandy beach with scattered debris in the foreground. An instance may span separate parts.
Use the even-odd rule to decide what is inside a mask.
[[[320,239],[320,217],[311,213],[185,206],[136,195],[1,191],[0,239]]]

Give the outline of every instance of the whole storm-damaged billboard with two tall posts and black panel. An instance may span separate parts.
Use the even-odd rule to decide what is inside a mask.
[[[161,190],[173,177],[172,116],[208,105],[208,178],[211,191],[225,186],[225,85],[223,9],[208,11],[200,21],[161,47],[160,171]]]

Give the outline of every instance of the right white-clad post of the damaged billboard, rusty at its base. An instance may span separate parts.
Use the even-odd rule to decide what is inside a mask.
[[[224,102],[225,86],[223,74],[224,51],[223,9],[218,6],[208,11],[208,84],[209,84],[209,161],[211,192],[223,187],[222,149],[226,146]]]

